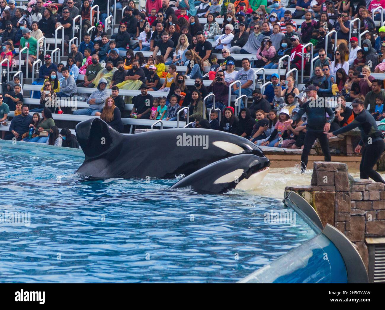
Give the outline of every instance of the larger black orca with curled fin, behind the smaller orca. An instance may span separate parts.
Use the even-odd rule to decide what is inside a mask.
[[[212,129],[174,128],[122,135],[100,118],[75,127],[85,154],[78,173],[95,178],[175,178],[239,154],[264,157],[249,140]]]

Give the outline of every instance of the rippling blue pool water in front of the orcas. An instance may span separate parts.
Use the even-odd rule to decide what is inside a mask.
[[[30,213],[0,223],[0,282],[236,282],[316,235],[299,215],[265,221],[283,203],[255,192],[83,181],[82,157],[0,150],[0,215]]]

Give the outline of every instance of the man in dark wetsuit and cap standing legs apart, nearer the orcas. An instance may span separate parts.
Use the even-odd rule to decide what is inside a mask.
[[[305,172],[306,166],[309,160],[309,153],[313,143],[318,138],[321,144],[321,149],[325,157],[325,162],[331,161],[329,140],[324,132],[330,130],[330,124],[333,122],[335,115],[333,110],[329,107],[318,107],[318,96],[317,88],[313,85],[308,86],[305,89],[308,98],[315,98],[314,101],[305,102],[300,108],[299,112],[294,115],[291,120],[287,122],[295,122],[301,119],[302,115],[307,114],[306,135],[303,140],[303,151],[301,155],[301,172]],[[330,118],[326,120],[326,113],[329,114]]]

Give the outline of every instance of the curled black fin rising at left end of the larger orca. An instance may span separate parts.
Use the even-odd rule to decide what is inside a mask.
[[[91,118],[78,123],[75,132],[86,159],[112,152],[114,147],[126,138],[100,118]]]

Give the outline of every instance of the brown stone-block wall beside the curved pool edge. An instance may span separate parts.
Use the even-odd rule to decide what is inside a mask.
[[[315,162],[310,186],[286,187],[315,208],[322,224],[352,241],[368,269],[367,237],[385,237],[385,185],[353,179],[345,163]]]

